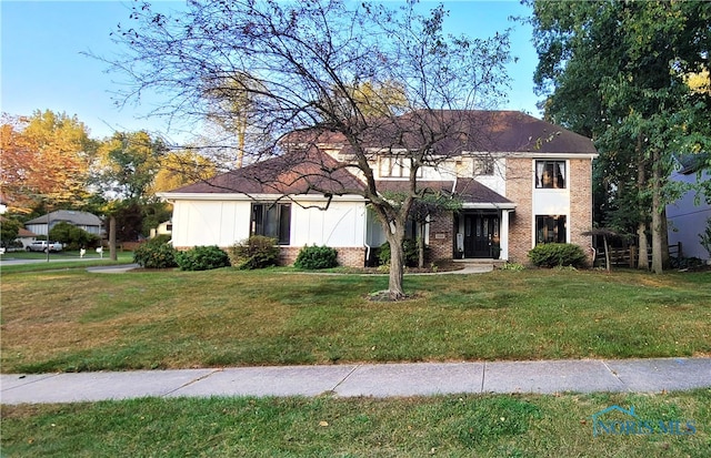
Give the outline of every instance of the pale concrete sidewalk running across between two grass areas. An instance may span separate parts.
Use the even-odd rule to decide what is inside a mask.
[[[711,387],[711,358],[351,364],[0,376],[1,403],[140,397],[428,396]]]

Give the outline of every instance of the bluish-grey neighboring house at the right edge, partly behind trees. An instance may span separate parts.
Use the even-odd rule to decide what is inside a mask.
[[[705,156],[703,156],[705,157]],[[707,171],[698,177],[702,156],[685,156],[679,161],[680,169],[671,175],[672,181],[693,184],[697,180],[711,180],[711,174]],[[667,205],[667,220],[669,221],[669,244],[681,243],[681,254],[684,257],[698,257],[709,259],[709,252],[701,245],[699,234],[707,227],[707,221],[711,218],[711,204],[699,196],[697,205],[697,193],[689,191],[673,204]]]

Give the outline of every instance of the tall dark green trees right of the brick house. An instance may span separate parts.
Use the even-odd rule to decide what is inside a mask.
[[[688,189],[669,180],[698,165],[711,201],[711,3],[528,0],[545,116],[595,141],[595,223],[631,235],[639,267],[668,263],[665,205]],[[702,227],[699,227],[702,231]],[[651,243],[650,243],[651,240]]]

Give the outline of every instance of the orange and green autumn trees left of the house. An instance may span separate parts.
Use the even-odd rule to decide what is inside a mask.
[[[189,149],[171,150],[148,132],[97,140],[77,116],[50,110],[3,113],[1,149],[0,185],[8,207],[3,243],[17,238],[26,221],[57,210],[93,213],[112,222],[107,235],[113,241],[137,241],[171,216],[156,193],[214,171],[210,160]],[[60,230],[50,236],[83,240]]]

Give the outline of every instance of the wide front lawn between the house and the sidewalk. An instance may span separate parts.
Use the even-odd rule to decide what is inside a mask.
[[[711,354],[711,273],[3,272],[3,373]]]

